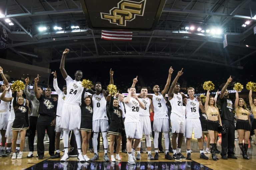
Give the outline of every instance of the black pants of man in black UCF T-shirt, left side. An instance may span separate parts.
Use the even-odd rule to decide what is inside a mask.
[[[49,155],[54,155],[55,150],[55,126],[51,126],[54,120],[52,116],[39,115],[37,119],[37,154],[44,156],[44,136],[45,130],[49,136]]]

